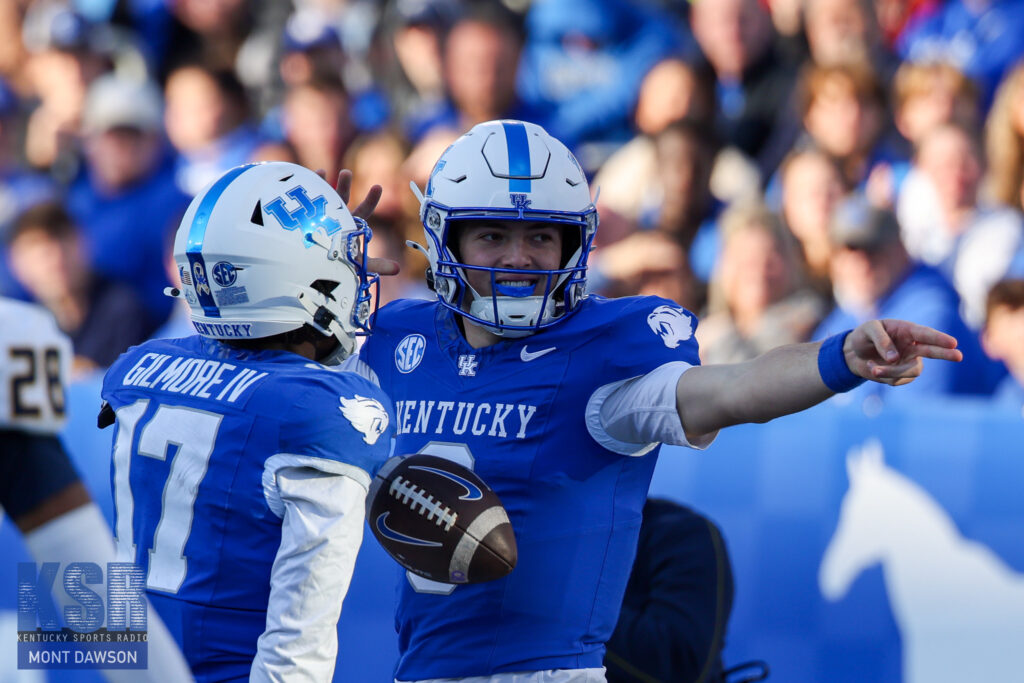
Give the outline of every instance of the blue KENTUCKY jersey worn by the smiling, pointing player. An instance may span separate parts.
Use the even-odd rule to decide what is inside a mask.
[[[395,401],[395,453],[471,465],[508,509],[519,551],[499,581],[402,582],[397,678],[602,666],[657,450],[605,450],[587,402],[666,362],[698,365],[693,319],[654,297],[590,297],[560,325],[474,349],[435,302],[380,310],[360,358]]]

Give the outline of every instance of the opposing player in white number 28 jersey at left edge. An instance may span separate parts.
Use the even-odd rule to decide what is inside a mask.
[[[105,570],[115,561],[110,527],[57,436],[71,358],[71,340],[48,311],[0,297],[0,507],[37,562],[93,562]],[[146,622],[148,668],[111,670],[106,677],[190,680],[160,617],[151,610]]]

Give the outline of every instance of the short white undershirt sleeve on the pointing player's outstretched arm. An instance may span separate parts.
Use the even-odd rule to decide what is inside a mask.
[[[590,435],[605,449],[624,456],[642,456],[658,443],[707,449],[717,432],[691,443],[676,409],[676,385],[693,367],[675,360],[646,375],[598,387],[587,401]]]

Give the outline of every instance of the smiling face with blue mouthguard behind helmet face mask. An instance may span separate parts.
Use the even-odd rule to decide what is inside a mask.
[[[517,270],[555,270],[562,263],[557,223],[473,220],[453,227],[459,260],[467,265]],[[481,297],[490,296],[490,273],[467,268],[464,276]],[[500,296],[544,296],[548,279],[538,273],[495,273]],[[554,283],[552,283],[552,286]]]

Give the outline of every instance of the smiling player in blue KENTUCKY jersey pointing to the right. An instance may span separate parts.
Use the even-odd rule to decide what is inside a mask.
[[[347,196],[347,180],[338,187]],[[803,410],[863,378],[909,382],[922,357],[959,358],[947,335],[873,321],[698,367],[692,313],[587,296],[598,223],[587,180],[529,123],[477,125],[416,191],[437,301],[383,307],[348,367],[395,401],[396,453],[459,460],[494,487],[519,559],[485,584],[409,575],[399,681],[604,680],[660,443],[702,449],[727,425]]]

